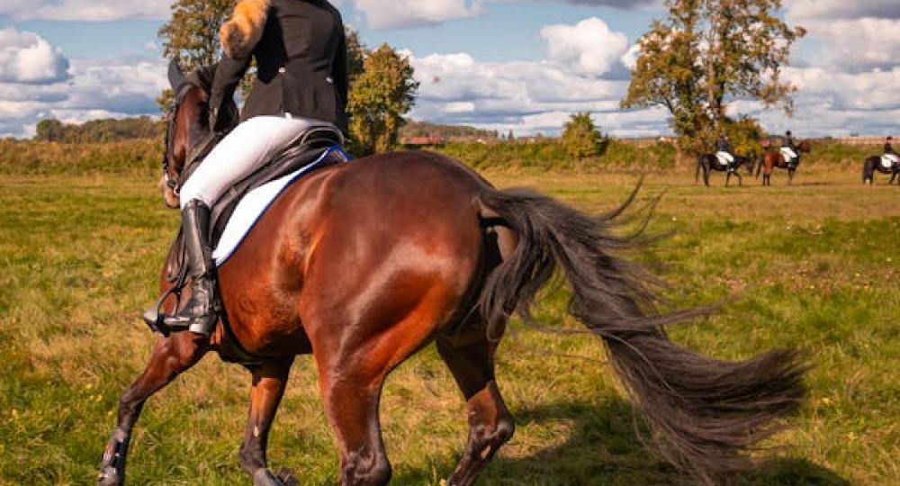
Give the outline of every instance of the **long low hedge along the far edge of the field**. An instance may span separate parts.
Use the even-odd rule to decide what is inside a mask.
[[[667,143],[637,144],[629,140],[606,140],[599,157],[574,160],[554,140],[533,143],[450,143],[428,148],[462,160],[476,169],[528,171],[671,170],[675,148]],[[813,143],[806,155],[807,166],[855,166],[865,157],[881,152],[880,146],[853,146],[838,142]],[[31,140],[0,140],[0,174],[121,174],[157,175],[162,141],[137,139],[110,143],[73,144]],[[687,159],[680,169],[693,170]]]

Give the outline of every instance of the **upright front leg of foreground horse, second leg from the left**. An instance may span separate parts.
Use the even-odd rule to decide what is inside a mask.
[[[244,443],[240,446],[240,468],[253,476],[255,486],[282,486],[284,483],[268,469],[266,446],[275,412],[284,397],[293,357],[250,368],[253,389]]]

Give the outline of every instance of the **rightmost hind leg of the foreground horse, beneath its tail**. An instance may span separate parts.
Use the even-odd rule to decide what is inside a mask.
[[[453,373],[466,400],[469,439],[448,486],[473,484],[491,458],[509,441],[515,424],[494,379],[494,352],[483,326],[464,325],[464,334],[437,338],[437,351]]]

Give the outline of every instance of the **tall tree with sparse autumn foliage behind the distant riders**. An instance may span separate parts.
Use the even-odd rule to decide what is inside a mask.
[[[709,148],[724,128],[727,105],[756,100],[793,108],[793,85],[781,79],[802,27],[776,15],[781,0],[666,0],[669,18],[654,21],[623,107],[662,105],[679,147]]]

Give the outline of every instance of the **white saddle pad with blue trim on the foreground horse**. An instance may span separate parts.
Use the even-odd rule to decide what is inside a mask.
[[[229,259],[238,251],[244,239],[247,238],[247,235],[250,234],[250,231],[257,226],[257,222],[263,218],[266,211],[272,207],[272,204],[278,200],[287,188],[302,179],[304,175],[322,166],[332,154],[338,154],[338,156],[344,158],[345,163],[353,160],[353,157],[347,154],[344,148],[341,148],[339,145],[333,145],[322,152],[322,155],[310,164],[247,193],[238,202],[238,207],[235,208],[228,224],[225,226],[225,230],[222,231],[219,245],[212,252],[212,258],[215,260],[216,266],[223,266],[228,263]]]

